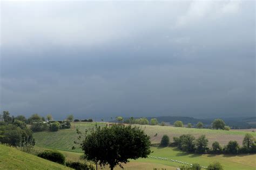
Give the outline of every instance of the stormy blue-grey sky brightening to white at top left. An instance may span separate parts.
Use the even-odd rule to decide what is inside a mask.
[[[255,1],[1,1],[0,111],[255,116]]]

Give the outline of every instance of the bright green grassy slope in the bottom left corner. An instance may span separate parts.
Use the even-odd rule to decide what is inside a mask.
[[[14,147],[0,145],[0,169],[71,169]]]

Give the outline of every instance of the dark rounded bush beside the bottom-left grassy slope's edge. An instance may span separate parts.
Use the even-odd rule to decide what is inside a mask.
[[[37,156],[52,162],[57,162],[58,164],[65,165],[66,158],[62,153],[58,151],[45,150],[44,152],[39,153]]]

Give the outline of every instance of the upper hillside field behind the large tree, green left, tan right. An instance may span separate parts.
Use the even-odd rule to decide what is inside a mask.
[[[97,123],[98,125],[106,125],[105,123]],[[80,131],[84,131],[86,128],[94,126],[95,123],[72,123],[71,129],[60,130],[58,132],[38,132],[33,136],[36,139],[36,145],[45,148],[56,148],[64,151],[72,151],[74,146],[73,141],[77,139],[76,128]],[[141,126],[145,132],[150,135],[151,142],[159,143],[161,137],[164,134],[169,135],[172,140],[173,137],[179,137],[182,134],[192,134],[196,138],[201,134],[205,134],[209,140],[209,145],[212,145],[213,141],[219,141],[221,145],[226,145],[229,140],[237,140],[239,144],[242,144],[242,139],[246,133],[251,133],[256,138],[256,132],[244,132],[244,131],[223,131],[223,130],[209,130],[209,129],[197,129],[197,128],[185,128],[185,127],[172,127],[172,126],[150,126],[150,125],[137,125]],[[157,133],[157,136],[154,135]],[[76,152],[82,152],[79,149]]]

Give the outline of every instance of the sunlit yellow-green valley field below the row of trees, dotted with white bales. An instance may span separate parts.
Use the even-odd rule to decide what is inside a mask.
[[[41,148],[42,149],[42,148]],[[248,169],[252,170],[256,168],[256,155],[255,154],[240,154],[240,155],[209,155],[209,154],[188,154],[185,152],[181,152],[176,148],[165,147],[165,148],[157,148],[151,147],[151,155],[146,159],[137,159],[130,160],[128,164],[124,164],[124,170],[137,170],[137,169],[152,169],[154,168],[166,168],[176,169],[182,164],[171,162],[170,159],[179,160],[183,162],[188,162],[189,164],[199,163],[201,166],[208,166],[213,161],[219,161],[221,165],[224,166],[224,169]],[[77,152],[68,152],[68,151],[60,151],[65,154],[67,159],[70,160],[79,160],[80,155],[82,153]],[[151,158],[154,157],[162,157],[167,158],[168,160],[160,160]],[[104,169],[109,169],[105,167]],[[116,167],[115,169],[121,169]]]

